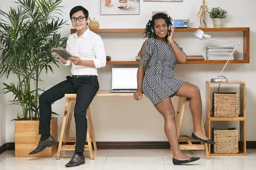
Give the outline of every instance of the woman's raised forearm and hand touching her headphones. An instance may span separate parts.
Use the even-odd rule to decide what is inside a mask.
[[[174,29],[171,27],[172,33],[171,35],[168,37],[168,42],[171,44],[172,46],[172,50],[178,60],[178,62],[184,64],[186,62],[186,54],[177,47],[177,45],[175,44],[175,42],[173,41],[173,33],[174,33]]]

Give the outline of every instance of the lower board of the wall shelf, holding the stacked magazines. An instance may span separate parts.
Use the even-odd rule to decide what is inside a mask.
[[[225,64],[227,60],[187,60],[185,64]],[[232,60],[230,64],[248,63],[247,60]],[[139,61],[107,61],[107,65],[138,65]],[[177,62],[177,64],[180,64]]]

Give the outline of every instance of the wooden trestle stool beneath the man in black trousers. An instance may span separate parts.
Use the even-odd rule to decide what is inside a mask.
[[[68,137],[69,130],[70,130],[70,123],[71,123],[74,106],[75,106],[75,102],[76,102],[76,94],[65,94],[65,97],[67,98],[67,102],[66,102],[66,106],[65,106],[63,123],[62,123],[62,127],[61,127],[61,136],[60,136],[60,141],[59,141],[59,145],[58,145],[58,152],[57,152],[56,159],[60,159],[61,150],[75,150],[75,147],[76,147],[76,144],[67,145],[67,142],[76,142],[76,138]],[[70,102],[71,102],[70,113],[69,113],[69,117],[68,117],[68,121],[67,121],[67,112],[68,112]],[[87,108],[87,115],[88,115],[89,127],[90,127],[90,132],[91,132],[92,137],[90,137],[90,133],[87,128],[86,141],[87,141],[88,145],[84,145],[84,150],[89,150],[90,159],[94,159],[91,141],[93,141],[94,150],[97,150],[97,145],[96,145],[95,134],[94,134],[94,130],[93,130],[93,122],[92,122],[89,107]],[[67,121],[67,128],[66,128],[65,138],[63,141],[66,121]],[[62,145],[62,141],[63,141],[63,145]]]

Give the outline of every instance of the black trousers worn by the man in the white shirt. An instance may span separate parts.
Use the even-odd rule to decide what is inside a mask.
[[[99,90],[97,77],[72,78],[58,83],[39,96],[39,134],[50,135],[50,121],[52,116],[51,103],[64,97],[65,94],[76,94],[74,117],[76,122],[76,150],[84,152],[84,144],[87,134],[87,108]]]

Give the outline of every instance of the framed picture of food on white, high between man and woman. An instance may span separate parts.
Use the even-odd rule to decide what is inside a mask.
[[[140,0],[101,0],[101,15],[139,15]]]

